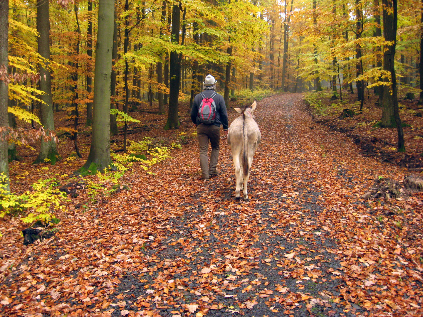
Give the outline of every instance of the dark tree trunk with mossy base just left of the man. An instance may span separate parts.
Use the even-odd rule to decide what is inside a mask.
[[[170,41],[179,45],[179,29],[181,18],[181,4],[173,5],[172,9],[172,30]],[[178,98],[179,84],[181,80],[181,59],[176,51],[170,51],[170,71],[169,71],[169,112],[165,130],[179,127],[178,118]]]

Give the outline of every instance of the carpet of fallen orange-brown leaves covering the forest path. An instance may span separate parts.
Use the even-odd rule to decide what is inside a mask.
[[[407,172],[310,129],[299,94],[257,112],[248,201],[233,200],[222,139],[210,182],[197,180],[193,142],[152,174],[134,167],[109,201],[70,206],[56,237],[24,248],[13,223],[1,241],[3,314],[421,316],[422,194],[361,198],[375,177]]]

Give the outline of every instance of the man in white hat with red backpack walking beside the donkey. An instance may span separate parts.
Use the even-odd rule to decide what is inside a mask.
[[[225,135],[228,135],[228,113],[222,95],[216,93],[217,81],[207,75],[203,82],[203,92],[195,96],[191,108],[191,120],[197,128],[198,146],[200,148],[201,179],[209,180],[216,176],[219,158],[220,125]],[[207,156],[211,144],[210,163]]]

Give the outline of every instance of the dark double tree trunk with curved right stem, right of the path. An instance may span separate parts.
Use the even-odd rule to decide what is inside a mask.
[[[404,131],[402,130],[401,119],[398,112],[397,85],[395,75],[395,49],[396,49],[396,33],[397,33],[397,1],[382,0],[383,12],[383,36],[385,41],[392,41],[393,44],[386,46],[383,55],[383,69],[391,74],[392,86],[383,87],[382,101],[382,125],[396,125],[398,132],[398,152],[405,152]],[[390,91],[392,89],[392,92]],[[391,95],[392,93],[392,95]],[[385,123],[387,125],[385,125]]]

